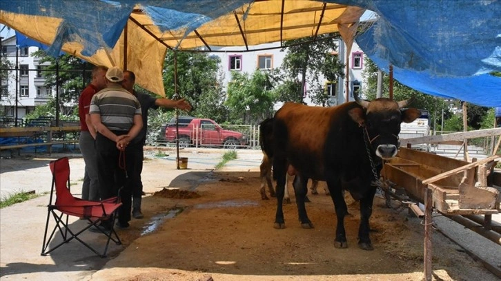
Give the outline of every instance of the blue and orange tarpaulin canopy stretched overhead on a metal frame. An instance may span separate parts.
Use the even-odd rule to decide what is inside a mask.
[[[55,54],[65,50],[108,66],[128,61],[139,84],[164,94],[167,49],[328,32],[340,32],[349,44],[365,9],[377,20],[356,41],[383,70],[393,65],[395,79],[426,94],[501,106],[501,78],[489,74],[501,72],[496,0],[12,0],[0,2],[0,23]]]

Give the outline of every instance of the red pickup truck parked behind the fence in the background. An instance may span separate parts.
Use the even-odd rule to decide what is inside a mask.
[[[179,147],[190,145],[219,146],[226,149],[236,149],[248,145],[246,135],[223,129],[213,120],[180,116],[178,121]],[[165,131],[166,141],[176,141],[176,120],[173,118],[168,123]]]

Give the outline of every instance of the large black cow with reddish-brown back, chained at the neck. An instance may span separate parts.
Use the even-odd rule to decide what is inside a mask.
[[[369,218],[382,160],[397,154],[400,123],[420,116],[419,110],[401,110],[409,101],[389,98],[355,101],[336,107],[310,107],[286,103],[273,122],[273,176],[277,180],[275,228],[285,227],[282,202],[289,165],[296,171],[293,183],[302,227],[312,228],[304,199],[308,178],[325,180],[337,216],[335,247],[348,247],[344,229],[347,214],[343,190],[360,200],[359,247],[372,250]]]

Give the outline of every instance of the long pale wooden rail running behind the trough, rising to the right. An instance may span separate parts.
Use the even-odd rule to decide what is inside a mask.
[[[400,140],[402,147],[407,144],[419,145],[422,143],[441,143],[443,141],[464,141],[468,138],[482,138],[484,136],[500,136],[501,128],[479,129],[470,132],[442,134],[437,136],[421,136],[419,138],[404,138]]]

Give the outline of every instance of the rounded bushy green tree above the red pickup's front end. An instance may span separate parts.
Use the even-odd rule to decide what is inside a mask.
[[[230,110],[230,120],[244,124],[259,123],[273,114],[276,101],[273,84],[268,72],[256,70],[249,75],[232,72],[228,84],[228,99],[225,105]]]

